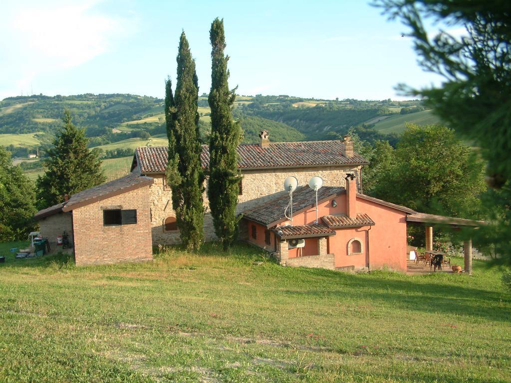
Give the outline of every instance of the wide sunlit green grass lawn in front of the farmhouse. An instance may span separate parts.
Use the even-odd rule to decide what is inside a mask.
[[[2,382],[511,380],[511,299],[482,261],[407,276],[284,268],[247,245],[81,268],[10,255],[0,291]]]

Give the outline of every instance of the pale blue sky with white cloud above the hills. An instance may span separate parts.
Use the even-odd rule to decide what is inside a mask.
[[[365,1],[3,0],[0,14],[0,100],[31,92],[163,97],[165,78],[176,77],[181,30],[199,93],[207,93],[217,16],[239,94],[404,99],[394,90],[400,82],[439,82],[417,65],[405,27]]]

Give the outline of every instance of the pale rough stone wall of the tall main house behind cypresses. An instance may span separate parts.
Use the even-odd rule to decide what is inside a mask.
[[[258,169],[243,171],[242,190],[239,196],[238,211],[260,205],[266,200],[275,197],[275,193],[283,192],[284,180],[288,176],[295,176],[299,185],[307,185],[310,178],[319,176],[323,179],[326,186],[345,186],[346,173],[356,173],[360,175],[361,166],[353,167],[351,165],[339,166],[317,166],[317,167],[300,167],[289,169]],[[139,172],[135,168],[133,172]],[[153,246],[159,244],[173,245],[181,242],[179,231],[165,231],[165,220],[168,217],[175,217],[176,213],[172,208],[172,192],[166,184],[164,174],[145,174],[154,178],[154,183],[150,188],[150,216],[151,216],[151,232],[153,238]],[[357,177],[359,179],[360,177]],[[205,181],[207,187],[207,180]],[[359,185],[360,187],[360,185]],[[271,196],[271,197],[270,197]],[[207,194],[204,192],[204,207],[206,214],[204,216],[204,238],[206,241],[214,241],[216,239],[215,229],[213,226],[213,218],[209,212],[209,202]],[[246,239],[245,223],[240,222],[240,238]]]

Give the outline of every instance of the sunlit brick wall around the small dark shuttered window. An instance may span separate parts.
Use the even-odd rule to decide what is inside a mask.
[[[76,265],[150,260],[149,186],[73,210]],[[136,209],[136,224],[103,225],[104,209]]]

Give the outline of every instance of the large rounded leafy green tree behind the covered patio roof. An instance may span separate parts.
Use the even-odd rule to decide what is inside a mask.
[[[452,129],[408,124],[397,149],[380,162],[371,194],[425,213],[460,216],[479,211],[483,163]]]

